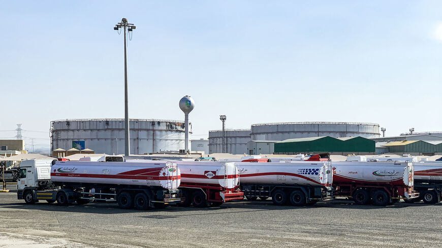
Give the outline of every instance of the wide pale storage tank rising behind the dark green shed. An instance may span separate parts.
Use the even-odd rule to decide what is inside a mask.
[[[305,137],[379,137],[379,124],[362,122],[286,122],[253,124],[251,140],[285,140]]]

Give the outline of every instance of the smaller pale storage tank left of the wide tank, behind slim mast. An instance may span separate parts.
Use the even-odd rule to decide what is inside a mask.
[[[250,129],[225,130],[226,153],[247,153],[247,142],[250,141]],[[209,131],[209,153],[223,152],[223,130]]]

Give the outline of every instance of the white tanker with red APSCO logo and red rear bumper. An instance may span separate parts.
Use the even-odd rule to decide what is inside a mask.
[[[154,160],[127,160],[154,163]],[[223,202],[242,200],[238,168],[232,162],[173,161],[181,171],[179,189],[184,201],[178,206],[219,206]]]

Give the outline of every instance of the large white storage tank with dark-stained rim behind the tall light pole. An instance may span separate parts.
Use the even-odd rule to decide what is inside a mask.
[[[190,130],[192,124],[189,123]],[[184,121],[130,119],[131,154],[184,149]],[[51,122],[51,150],[88,148],[124,153],[124,119],[66,119]]]

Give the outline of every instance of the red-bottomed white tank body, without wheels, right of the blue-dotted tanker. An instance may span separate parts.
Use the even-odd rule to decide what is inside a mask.
[[[369,184],[413,187],[411,162],[332,162],[333,185]]]

